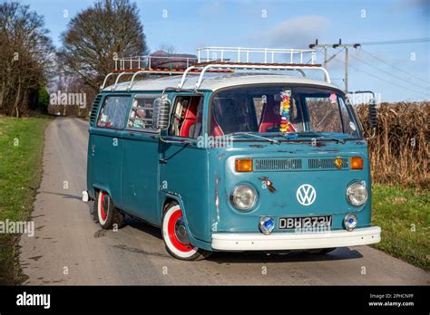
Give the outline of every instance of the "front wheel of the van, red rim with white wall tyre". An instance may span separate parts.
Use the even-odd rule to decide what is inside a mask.
[[[167,251],[176,259],[200,261],[210,256],[211,252],[193,246],[188,241],[182,210],[177,203],[167,206],[162,217],[161,232]]]

